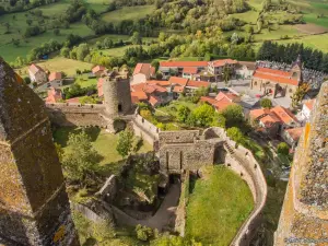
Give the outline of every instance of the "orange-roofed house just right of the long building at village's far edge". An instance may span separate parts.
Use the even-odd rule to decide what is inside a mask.
[[[231,74],[234,75],[237,63],[238,61],[232,59],[210,61],[208,63],[208,72],[214,75],[215,81],[222,81],[224,69],[229,68]]]

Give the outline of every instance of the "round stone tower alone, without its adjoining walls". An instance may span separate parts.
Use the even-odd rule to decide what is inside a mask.
[[[110,116],[128,114],[131,110],[131,89],[128,73],[116,73],[104,81],[106,113]]]

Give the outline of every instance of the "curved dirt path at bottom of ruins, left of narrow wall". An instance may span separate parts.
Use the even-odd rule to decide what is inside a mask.
[[[179,195],[179,184],[172,185],[157,212],[153,216],[145,220],[137,220],[115,207],[112,208],[114,210],[116,221],[119,225],[136,226],[138,224],[141,224],[148,227],[157,229],[161,232],[165,226],[169,224],[169,221],[175,218],[175,211],[178,204]]]

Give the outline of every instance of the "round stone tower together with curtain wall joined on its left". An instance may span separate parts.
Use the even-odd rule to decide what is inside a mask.
[[[46,104],[51,122],[62,127],[97,126],[115,132],[116,119],[129,120],[133,114],[128,74],[113,72],[102,80],[104,104]]]

